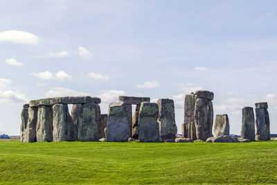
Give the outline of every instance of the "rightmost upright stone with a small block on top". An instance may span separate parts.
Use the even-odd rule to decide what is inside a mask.
[[[269,112],[267,102],[255,103],[256,105],[256,139],[258,141],[270,140]]]

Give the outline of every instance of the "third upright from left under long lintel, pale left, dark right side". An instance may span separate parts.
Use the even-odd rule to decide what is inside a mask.
[[[53,141],[73,141],[74,122],[64,104],[53,106]]]

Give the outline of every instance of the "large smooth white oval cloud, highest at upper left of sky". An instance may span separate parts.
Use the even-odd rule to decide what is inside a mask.
[[[37,45],[39,37],[21,30],[7,30],[0,32],[0,42]]]

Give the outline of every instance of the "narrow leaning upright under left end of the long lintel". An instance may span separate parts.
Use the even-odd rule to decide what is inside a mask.
[[[28,123],[23,142],[33,143],[37,141],[37,107],[28,108]]]

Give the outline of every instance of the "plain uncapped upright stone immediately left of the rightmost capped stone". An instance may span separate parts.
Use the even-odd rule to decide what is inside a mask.
[[[242,108],[242,130],[240,132],[242,139],[255,141],[255,123],[253,107]]]

